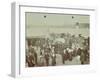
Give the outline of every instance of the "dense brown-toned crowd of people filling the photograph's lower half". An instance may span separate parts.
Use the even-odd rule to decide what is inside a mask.
[[[77,37],[63,33],[53,34],[49,38],[26,39],[26,67],[66,65],[66,61],[71,62],[74,57],[81,64],[89,64],[89,55],[89,37],[81,34]]]

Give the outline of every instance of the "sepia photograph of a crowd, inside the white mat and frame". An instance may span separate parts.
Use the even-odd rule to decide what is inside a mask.
[[[25,12],[25,67],[90,64],[90,16]]]

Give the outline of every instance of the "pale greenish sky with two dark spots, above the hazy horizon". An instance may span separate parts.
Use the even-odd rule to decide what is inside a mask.
[[[48,14],[48,13],[26,13],[26,25],[32,26],[62,26],[71,25],[76,22],[89,23],[88,15],[74,15],[74,14]]]

